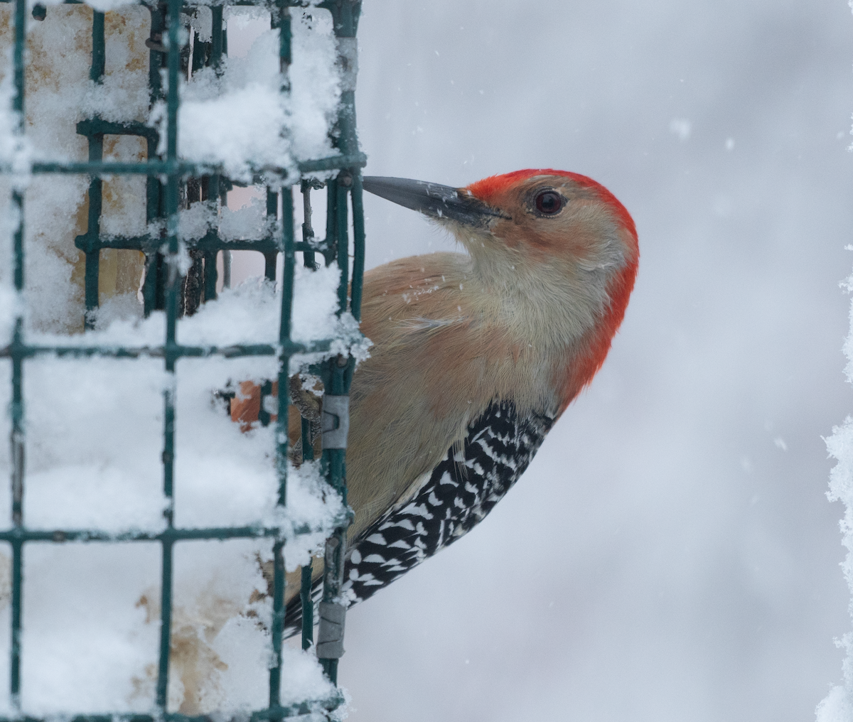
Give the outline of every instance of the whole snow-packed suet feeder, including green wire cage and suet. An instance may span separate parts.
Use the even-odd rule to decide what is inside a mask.
[[[340,708],[360,6],[0,6],[0,719]],[[230,289],[231,251],[265,278]]]

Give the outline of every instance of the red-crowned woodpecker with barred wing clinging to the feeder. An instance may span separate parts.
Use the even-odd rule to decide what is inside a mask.
[[[366,176],[464,252],[363,279],[370,356],[353,375],[343,594],[362,602],[482,521],[601,368],[635,284],[635,223],[587,176],[527,169],[464,188]],[[312,597],[321,591],[315,564]],[[299,585],[287,595],[299,631]]]

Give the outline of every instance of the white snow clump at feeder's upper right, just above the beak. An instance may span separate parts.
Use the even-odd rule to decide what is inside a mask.
[[[239,10],[230,10],[239,17]],[[257,10],[254,10],[257,14]],[[278,32],[258,37],[243,58],[223,60],[222,72],[195,72],[181,88],[178,152],[184,159],[223,165],[250,180],[252,167],[293,170],[300,159],[332,154],[328,131],[340,90],[330,15],[312,9],[293,17],[291,93],[281,93]],[[150,122],[165,150],[165,104]]]

